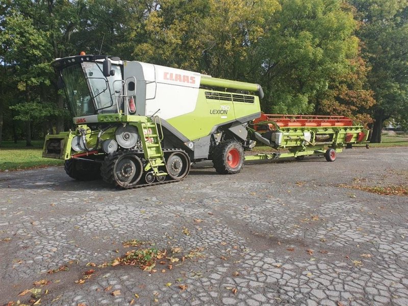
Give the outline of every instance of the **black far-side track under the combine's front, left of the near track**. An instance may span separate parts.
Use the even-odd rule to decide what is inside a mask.
[[[69,159],[64,163],[65,172],[77,181],[93,181],[100,179],[100,163]]]

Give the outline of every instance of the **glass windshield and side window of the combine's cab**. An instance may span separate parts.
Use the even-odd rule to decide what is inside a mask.
[[[117,113],[115,89],[120,92],[122,74],[120,66],[112,65],[115,74],[107,79],[102,72],[102,63],[85,62],[64,68],[62,78],[69,104],[75,117],[101,113]]]

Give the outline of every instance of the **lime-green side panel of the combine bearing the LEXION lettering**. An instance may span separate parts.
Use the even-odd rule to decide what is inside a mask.
[[[232,95],[232,101],[208,99],[206,98],[206,92]],[[240,95],[253,97],[253,103],[235,101],[232,93],[199,89],[194,111],[168,119],[167,122],[189,140],[195,140],[214,133],[214,127],[234,122],[237,118],[250,115],[254,115],[254,118],[256,118],[256,115],[261,112],[259,97]]]

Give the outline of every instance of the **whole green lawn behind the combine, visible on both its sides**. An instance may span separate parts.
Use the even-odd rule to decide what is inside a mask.
[[[25,147],[25,141],[3,141],[0,147],[0,171],[15,171],[33,169],[47,166],[61,166],[63,161],[50,158],[42,158],[42,140],[33,141],[32,147]],[[366,146],[366,143],[355,147]],[[382,143],[369,143],[370,147],[408,146],[408,136],[382,136]],[[273,151],[268,146],[256,146],[253,152]]]

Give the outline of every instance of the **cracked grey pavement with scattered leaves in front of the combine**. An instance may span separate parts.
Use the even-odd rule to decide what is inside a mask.
[[[247,163],[236,175],[206,162],[136,190],[76,182],[62,167],[0,173],[0,304],[408,305],[408,197],[339,186],[406,186],[407,156],[354,148],[334,163]],[[133,239],[180,260],[98,267]],[[37,298],[18,296],[32,288]]]

